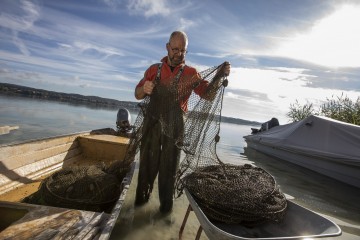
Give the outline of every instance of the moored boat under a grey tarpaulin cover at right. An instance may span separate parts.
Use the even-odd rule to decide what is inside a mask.
[[[252,130],[247,147],[360,188],[360,126],[311,115]]]

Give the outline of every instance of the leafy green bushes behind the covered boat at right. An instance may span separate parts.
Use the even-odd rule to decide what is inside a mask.
[[[360,125],[360,97],[354,102],[347,96],[331,99],[327,98],[326,102],[320,106],[318,112],[313,108],[312,103],[306,103],[301,106],[296,100],[294,104],[290,104],[290,111],[286,114],[291,121],[296,122],[302,120],[311,114],[322,115],[342,122]]]

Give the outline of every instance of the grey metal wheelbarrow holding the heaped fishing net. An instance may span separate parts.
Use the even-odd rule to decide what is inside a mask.
[[[256,226],[247,227],[242,224],[227,224],[209,219],[197,204],[191,193],[184,190],[189,207],[179,231],[179,239],[185,228],[190,211],[194,211],[200,222],[196,238],[199,239],[202,230],[210,240],[285,240],[285,239],[313,239],[340,236],[342,231],[331,220],[287,200],[287,210],[284,219],[279,222],[264,222]]]

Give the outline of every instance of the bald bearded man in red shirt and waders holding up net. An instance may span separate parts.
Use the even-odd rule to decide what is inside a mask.
[[[173,32],[170,35],[169,42],[166,43],[167,56],[161,60],[161,64],[150,66],[135,88],[135,97],[138,100],[152,95],[156,88],[164,91],[163,86],[168,86],[168,89],[170,89],[171,86],[175,85],[177,87],[175,88],[176,91],[180,88],[187,89],[188,91],[184,91],[185,94],[179,97],[178,106],[172,106],[172,111],[178,115],[175,121],[181,119],[179,121],[181,124],[182,114],[187,111],[187,102],[191,91],[194,91],[202,98],[211,99],[216,93],[214,90],[219,87],[215,86],[216,84],[210,85],[209,82],[202,80],[195,68],[185,65],[187,46],[187,35],[182,31]],[[229,73],[230,64],[225,62],[218,70],[215,78],[220,80],[221,77],[227,76]],[[168,95],[172,96],[172,94]],[[163,101],[169,102],[169,99]],[[159,110],[156,109],[156,111]],[[172,117],[171,120],[168,119],[167,121],[174,121],[174,119]],[[141,205],[149,200],[154,180],[156,175],[159,174],[160,212],[167,213],[171,211],[173,206],[175,175],[180,159],[180,149],[176,146],[175,135],[169,137],[169,135],[163,133],[162,124],[164,124],[164,121],[160,123],[156,118],[147,117],[145,114],[135,204]],[[172,129],[173,134],[177,134],[177,136],[182,134],[183,126],[181,124],[177,124],[175,129]]]

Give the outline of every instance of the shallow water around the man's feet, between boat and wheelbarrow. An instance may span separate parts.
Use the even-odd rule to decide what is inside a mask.
[[[127,193],[124,206],[120,212],[117,224],[110,239],[123,240],[175,240],[179,239],[179,230],[185,216],[188,201],[185,195],[174,200],[173,211],[170,214],[159,212],[157,182],[148,203],[135,207],[135,191],[138,171],[135,171],[133,182]],[[190,213],[185,225],[182,239],[195,239],[200,224],[193,212]],[[208,239],[202,233],[201,240]]]

